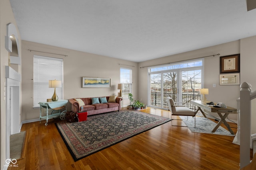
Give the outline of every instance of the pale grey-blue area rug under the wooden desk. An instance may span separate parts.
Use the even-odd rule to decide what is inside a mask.
[[[217,123],[211,121],[210,119],[206,117],[198,117],[196,116],[196,127],[194,127],[194,117],[188,116],[179,116],[182,121],[188,126],[188,129],[191,132],[196,133],[209,133],[209,134],[215,134],[215,135],[225,135],[225,136],[235,136],[230,133],[230,131],[226,130],[223,127],[218,127],[218,129],[212,133],[212,130],[217,125]]]

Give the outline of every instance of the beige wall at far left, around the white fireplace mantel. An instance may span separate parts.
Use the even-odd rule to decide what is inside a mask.
[[[4,83],[6,83],[5,78],[5,66],[8,66],[8,57],[10,53],[5,49],[5,36],[6,36],[6,25],[8,23],[13,23],[16,25],[14,15],[12,13],[12,8],[9,0],[0,0],[0,131],[1,131],[1,169],[4,167],[6,160],[6,100],[4,97]],[[18,27],[16,26],[18,31]],[[18,33],[19,34],[19,33]],[[20,40],[20,37],[18,37]],[[19,41],[21,44],[21,41]],[[21,54],[20,54],[21,57]],[[21,72],[21,68],[18,67],[18,72]],[[21,96],[21,94],[20,94]]]

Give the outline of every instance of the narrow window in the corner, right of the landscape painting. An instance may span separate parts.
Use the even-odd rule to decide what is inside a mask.
[[[128,94],[132,93],[132,69],[120,68],[120,83],[124,84],[122,96],[128,98]]]

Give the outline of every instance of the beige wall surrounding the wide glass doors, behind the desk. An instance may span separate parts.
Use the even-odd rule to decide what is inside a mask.
[[[220,75],[220,57],[226,55],[233,55],[240,53],[240,41],[232,41],[230,43],[224,43],[212,47],[189,51],[186,53],[180,53],[160,59],[154,59],[139,63],[139,88],[138,96],[142,101],[148,101],[148,68],[140,68],[144,66],[152,66],[156,64],[173,63],[188,59],[195,59],[198,57],[204,57],[209,55],[216,55],[220,53],[220,56],[206,57],[204,59],[204,88],[209,88],[209,94],[206,95],[207,100],[213,102],[223,102],[230,107],[236,108],[236,99],[240,96],[239,85],[219,85]],[[242,57],[241,57],[242,58]],[[216,84],[216,87],[213,87]],[[212,113],[217,116],[217,114]],[[229,115],[229,119],[237,120],[237,115]]]

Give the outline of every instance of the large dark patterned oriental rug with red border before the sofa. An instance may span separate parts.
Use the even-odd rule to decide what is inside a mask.
[[[88,116],[87,121],[55,123],[74,161],[170,121],[134,110]]]

